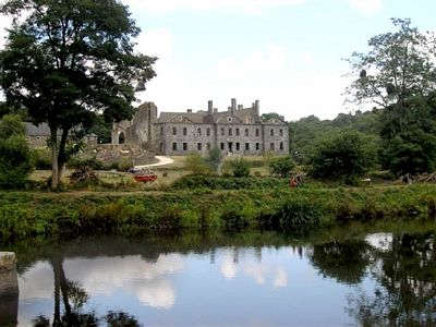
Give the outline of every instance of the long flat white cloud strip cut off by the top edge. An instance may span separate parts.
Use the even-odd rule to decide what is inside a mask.
[[[304,3],[306,0],[123,0],[133,10],[166,13],[177,10],[238,11],[259,13],[264,9]]]

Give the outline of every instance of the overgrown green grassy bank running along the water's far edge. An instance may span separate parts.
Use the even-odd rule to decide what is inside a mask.
[[[435,219],[436,185],[132,193],[0,193],[3,242],[180,229],[304,231],[346,221]]]

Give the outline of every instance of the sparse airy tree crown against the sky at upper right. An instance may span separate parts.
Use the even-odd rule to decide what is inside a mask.
[[[419,32],[410,20],[392,19],[392,24],[395,32],[374,36],[367,53],[349,59],[356,77],[348,89],[353,100],[387,108],[435,89],[434,35]]]

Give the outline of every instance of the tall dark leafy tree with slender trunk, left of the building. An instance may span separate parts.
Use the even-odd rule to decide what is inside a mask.
[[[118,0],[7,0],[0,12],[15,17],[0,51],[0,85],[8,104],[48,123],[56,189],[70,132],[87,131],[98,112],[131,118],[157,59],[134,51],[140,28]]]

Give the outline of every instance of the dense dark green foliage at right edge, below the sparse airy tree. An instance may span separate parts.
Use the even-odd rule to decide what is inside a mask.
[[[382,114],[383,164],[397,177],[436,169],[436,94],[405,99]]]

